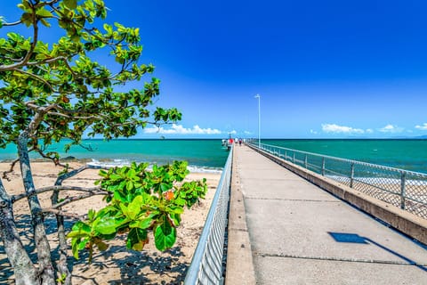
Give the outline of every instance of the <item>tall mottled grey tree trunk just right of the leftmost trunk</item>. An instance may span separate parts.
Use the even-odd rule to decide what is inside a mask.
[[[31,222],[34,230],[40,278],[43,285],[55,285],[55,273],[51,260],[51,247],[44,229],[44,217],[40,202],[35,194],[33,175],[28,156],[28,134],[23,131],[18,137],[18,154],[20,156],[20,171],[24,188],[28,194],[28,205],[31,211]]]

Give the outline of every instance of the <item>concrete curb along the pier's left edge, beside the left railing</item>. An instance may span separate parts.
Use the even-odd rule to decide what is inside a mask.
[[[255,284],[254,262],[235,158],[233,153],[225,284],[252,285]]]

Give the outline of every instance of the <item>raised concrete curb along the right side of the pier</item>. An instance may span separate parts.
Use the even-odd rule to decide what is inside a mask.
[[[285,159],[279,159],[269,152],[260,151],[251,145],[248,146],[282,167],[286,167],[288,170],[300,175],[302,178],[310,181],[310,183],[318,185],[320,188],[331,192],[360,210],[383,220],[383,222],[390,224],[393,228],[406,233],[415,240],[427,244],[427,220],[382,200],[370,197],[360,191],[356,191],[346,185],[337,183],[332,179],[318,175],[308,169],[294,165]]]

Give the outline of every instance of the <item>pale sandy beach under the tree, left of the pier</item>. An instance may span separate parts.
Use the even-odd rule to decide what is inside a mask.
[[[71,162],[70,166],[79,167],[79,162]],[[9,164],[0,163],[0,171],[9,168]],[[54,183],[60,167],[54,167],[50,162],[33,162],[33,176],[36,188],[50,186]],[[66,182],[64,185],[92,187],[94,181],[99,179],[99,170],[88,169]],[[22,192],[19,167],[9,174],[10,181],[3,180],[6,190],[10,194]],[[150,235],[149,244],[143,251],[137,252],[125,248],[125,237],[117,237],[109,244],[108,250],[96,251],[93,256],[93,264],[87,265],[83,260],[75,260],[69,253],[69,262],[72,264],[73,284],[181,284],[185,278],[185,272],[191,262],[197,240],[205,223],[205,217],[214,197],[215,189],[221,174],[191,173],[186,179],[207,179],[208,192],[206,198],[192,209],[185,209],[182,215],[182,223],[178,227],[177,240],[173,248],[165,252],[159,252],[154,246],[154,240]],[[61,197],[73,195],[71,191],[61,193]],[[49,207],[51,193],[39,195],[43,207]],[[74,204],[64,207],[65,210],[85,214],[89,208],[102,208],[104,202],[101,196],[79,200]],[[14,215],[17,220],[24,242],[28,234],[28,203],[22,199],[14,204]],[[46,224],[54,225],[52,217],[46,219]],[[69,225],[69,224],[68,224]],[[56,248],[57,237],[50,234],[52,248]],[[30,245],[32,246],[32,245]],[[83,255],[85,256],[85,255]],[[0,284],[10,284],[13,280],[12,268],[4,254],[3,243],[0,244]]]

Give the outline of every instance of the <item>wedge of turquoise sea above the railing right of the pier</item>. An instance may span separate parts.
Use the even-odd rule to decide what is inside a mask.
[[[262,140],[298,151],[309,151],[427,174],[427,140]]]

